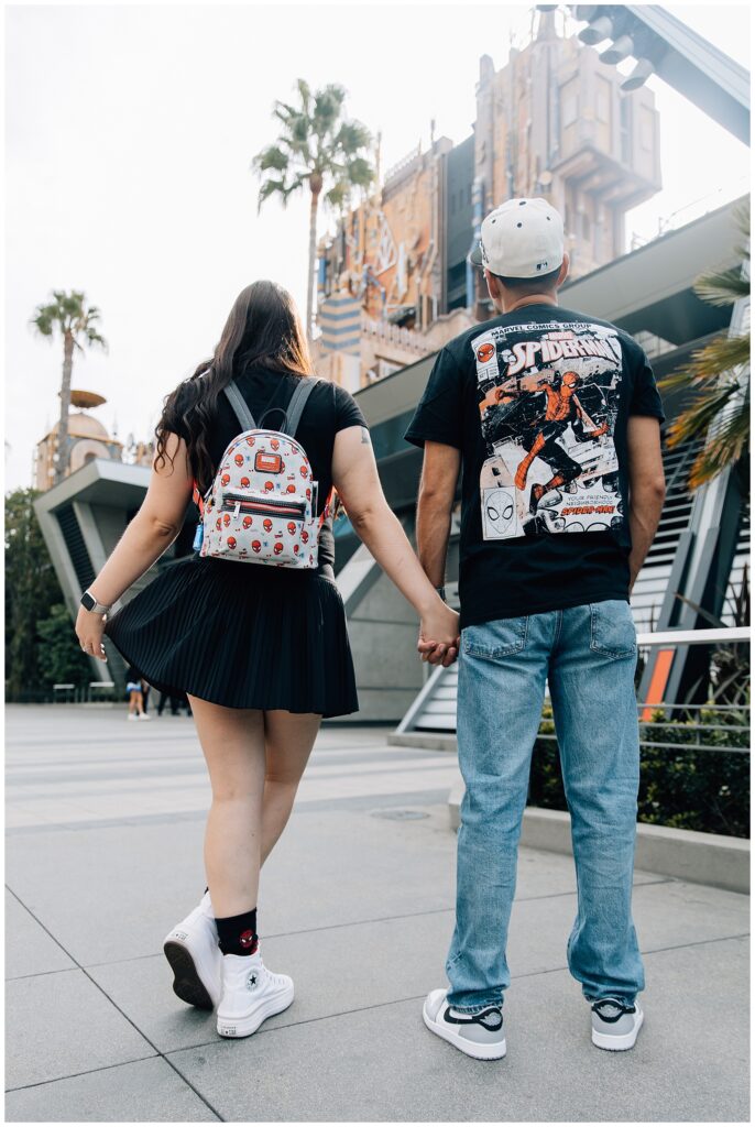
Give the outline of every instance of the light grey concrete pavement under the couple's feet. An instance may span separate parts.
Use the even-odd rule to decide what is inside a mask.
[[[748,899],[637,873],[646,1028],[589,1042],[566,970],[569,858],[523,850],[508,1056],[428,1033],[444,985],[454,836],[443,752],[326,728],[263,878],[286,1013],[222,1041],[170,990],[162,938],[204,887],[208,786],[190,720],[7,710],[9,1121],[745,1121]]]

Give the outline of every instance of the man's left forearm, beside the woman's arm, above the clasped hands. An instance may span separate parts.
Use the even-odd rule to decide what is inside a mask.
[[[434,587],[445,582],[451,509],[459,480],[461,451],[441,442],[425,443],[417,503],[417,554]]]

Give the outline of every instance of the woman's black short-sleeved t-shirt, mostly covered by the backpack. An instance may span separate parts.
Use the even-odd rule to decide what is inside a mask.
[[[236,385],[243,396],[258,427],[276,431],[283,426],[283,415],[273,408],[285,408],[296,388],[297,375],[287,372],[272,372],[265,367],[250,367],[234,376]],[[178,402],[180,412],[180,399]],[[268,414],[269,412],[269,414]],[[349,426],[366,427],[362,411],[352,396],[337,383],[318,380],[304,406],[304,414],[296,427],[295,438],[304,447],[318,482],[318,513],[322,513],[332,487],[332,447],[336,435]],[[177,431],[181,438],[186,432]],[[217,412],[210,427],[207,446],[216,472],[228,444],[241,433],[241,426],[228,397],[221,394]],[[332,518],[325,521],[319,538],[319,564],[332,564],[336,550],[332,538]]]

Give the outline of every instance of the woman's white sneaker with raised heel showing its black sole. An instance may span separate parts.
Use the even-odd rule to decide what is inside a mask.
[[[174,973],[174,992],[181,1002],[214,1010],[223,990],[223,953],[210,893],[166,935],[162,950]]]

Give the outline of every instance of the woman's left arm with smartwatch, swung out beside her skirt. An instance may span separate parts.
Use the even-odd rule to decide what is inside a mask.
[[[166,453],[169,456],[160,462],[159,468],[154,463],[152,465],[152,477],[139,513],[89,587],[97,602],[105,606],[117,602],[162,556],[181,530],[193,488],[186,443],[178,435],[169,435]],[[104,625],[101,614],[81,607],[76,621],[81,648],[101,660],[105,660]]]

